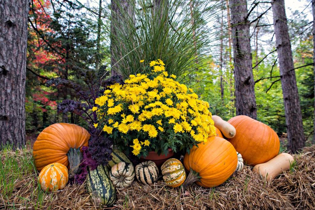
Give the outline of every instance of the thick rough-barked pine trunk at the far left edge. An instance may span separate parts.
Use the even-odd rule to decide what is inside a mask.
[[[25,145],[29,0],[0,1],[0,145]]]

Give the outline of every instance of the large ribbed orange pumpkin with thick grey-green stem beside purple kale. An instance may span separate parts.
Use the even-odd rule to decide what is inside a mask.
[[[33,157],[37,170],[48,164],[59,162],[68,167],[72,177],[82,159],[80,148],[88,146],[89,132],[74,124],[55,123],[39,133],[34,146]],[[70,163],[69,163],[70,162]],[[76,171],[72,169],[76,168]]]

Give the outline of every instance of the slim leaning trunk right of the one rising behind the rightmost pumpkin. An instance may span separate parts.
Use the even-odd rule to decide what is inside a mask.
[[[272,0],[272,12],[288,133],[288,149],[296,152],[305,145],[305,136],[295,71],[291,71],[294,65],[284,0]]]

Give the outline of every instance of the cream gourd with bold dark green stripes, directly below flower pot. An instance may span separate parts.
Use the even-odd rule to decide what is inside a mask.
[[[136,177],[143,184],[153,184],[158,177],[157,165],[152,161],[142,162],[136,165]]]

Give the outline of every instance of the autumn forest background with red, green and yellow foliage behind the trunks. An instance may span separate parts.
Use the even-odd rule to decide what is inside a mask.
[[[266,123],[283,137],[284,150],[287,130],[271,4],[263,1],[247,1],[247,4],[250,11],[248,19],[257,120]],[[306,145],[311,145],[315,143],[312,138],[312,2],[286,0],[285,4]],[[75,123],[87,128],[86,122],[78,115],[57,112],[57,104],[64,99],[76,99],[76,93],[60,86],[47,87],[45,82],[52,77],[61,77],[84,83],[78,73],[80,69],[103,68],[105,72],[109,70],[106,77],[110,76],[110,66],[113,65],[110,5],[111,2],[104,0],[31,0],[25,100],[27,141],[35,140],[43,128],[56,122]],[[196,61],[199,62],[198,68],[187,69],[186,80],[181,82],[209,102],[213,115],[225,120],[236,116],[231,14],[228,5],[226,0],[194,1],[193,4],[182,1],[178,8],[179,11],[186,9],[187,14],[191,14],[186,20],[192,24],[195,14],[203,13],[198,17],[204,18],[204,24],[197,30],[204,31],[207,36],[207,48],[198,52],[199,57],[203,58]],[[140,11],[143,8],[139,5],[138,9]]]

